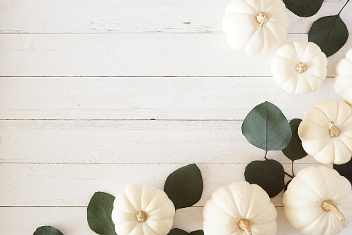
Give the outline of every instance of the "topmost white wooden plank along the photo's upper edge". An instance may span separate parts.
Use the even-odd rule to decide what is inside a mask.
[[[222,33],[230,0],[3,0],[0,33]],[[301,18],[289,12],[289,33],[308,33],[316,19],[337,14],[344,1],[328,1],[317,15]],[[352,4],[342,12],[352,25]]]

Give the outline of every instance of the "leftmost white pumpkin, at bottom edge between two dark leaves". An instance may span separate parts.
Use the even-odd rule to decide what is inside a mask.
[[[164,191],[140,184],[131,184],[115,198],[111,214],[118,235],[166,235],[174,216],[174,203]]]

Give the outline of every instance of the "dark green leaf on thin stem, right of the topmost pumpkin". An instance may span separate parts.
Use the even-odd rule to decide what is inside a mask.
[[[317,19],[308,33],[308,41],[320,46],[326,57],[339,51],[348,38],[349,30],[340,15]]]

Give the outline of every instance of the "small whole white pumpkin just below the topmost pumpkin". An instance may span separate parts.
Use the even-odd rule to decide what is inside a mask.
[[[284,44],[272,59],[271,70],[277,84],[290,93],[314,92],[326,78],[328,60],[313,42]]]

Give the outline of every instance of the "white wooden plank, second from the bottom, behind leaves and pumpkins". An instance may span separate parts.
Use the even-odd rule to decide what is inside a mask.
[[[260,158],[258,158],[260,160]],[[203,207],[221,186],[244,180],[247,164],[197,164],[204,190],[195,204]],[[291,164],[283,164],[291,173]],[[296,173],[306,166],[295,164]],[[129,184],[163,189],[167,176],[185,164],[0,164],[1,206],[86,206],[96,191],[118,195]],[[288,181],[289,178],[286,178]],[[272,198],[282,206],[283,192]]]

